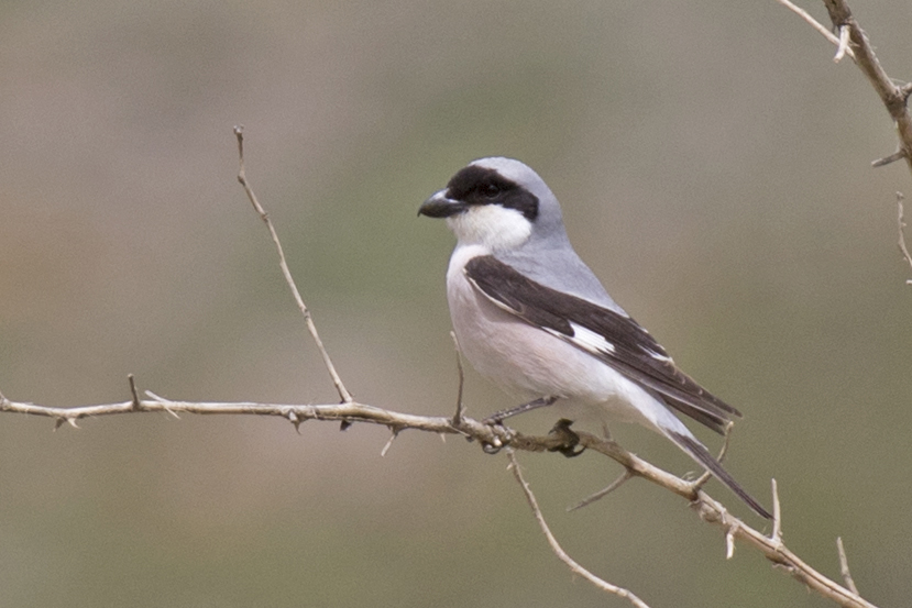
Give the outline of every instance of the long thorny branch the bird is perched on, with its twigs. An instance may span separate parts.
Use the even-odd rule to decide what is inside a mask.
[[[75,408],[54,408],[40,406],[28,402],[11,401],[2,393],[0,393],[0,412],[18,412],[30,416],[43,416],[52,418],[55,421],[55,429],[64,423],[69,423],[74,428],[77,427],[77,421],[84,418],[111,416],[119,413],[147,413],[147,412],[166,412],[175,418],[179,418],[179,413],[196,413],[196,414],[226,414],[226,416],[272,416],[288,420],[295,430],[299,431],[300,424],[308,420],[322,421],[338,421],[341,422],[341,428],[344,430],[355,422],[365,422],[372,424],[385,425],[391,430],[393,436],[383,449],[385,454],[393,440],[404,430],[415,429],[420,431],[433,432],[441,435],[446,434],[461,434],[470,441],[477,441],[486,452],[497,452],[501,449],[507,447],[510,458],[512,469],[516,479],[519,482],[523,491],[532,508],[536,520],[542,529],[542,532],[551,544],[552,550],[571,570],[584,576],[598,588],[613,593],[620,597],[629,599],[634,606],[638,608],[648,608],[633,593],[616,587],[602,578],[589,573],[576,564],[557,542],[551,534],[547,522],[541,515],[535,496],[531,494],[528,484],[523,478],[521,472],[516,464],[514,450],[521,450],[528,452],[554,452],[567,451],[565,435],[562,433],[551,433],[545,436],[526,435],[516,432],[509,428],[501,424],[486,424],[464,416],[464,408],[462,406],[462,365],[459,362],[460,369],[460,395],[457,404],[457,413],[453,417],[427,417],[415,416],[409,413],[400,413],[392,410],[386,410],[370,406],[366,404],[359,404],[353,400],[349,391],[342,384],[336,368],[330,361],[329,354],[320,341],[317,328],[310,317],[310,312],[304,303],[300,294],[295,286],[288,266],[285,262],[285,256],[282,251],[278,235],[273,228],[265,210],[256,200],[256,196],[250,188],[246,177],[244,175],[243,165],[243,130],[235,126],[234,133],[238,137],[238,148],[241,159],[241,168],[238,175],[238,180],[244,188],[253,207],[256,209],[261,219],[268,226],[273,242],[278,251],[279,265],[285,275],[286,281],[290,287],[298,308],[305,317],[308,330],[316,342],[320,354],[323,357],[327,371],[336,385],[339,396],[342,399],[338,405],[283,405],[283,404],[257,404],[257,402],[190,402],[190,401],[172,401],[146,391],[149,399],[140,399],[136,390],[133,376],[128,377],[130,384],[131,399],[120,404],[98,405],[98,406],[83,406]],[[457,351],[459,345],[457,344]],[[459,353],[457,353],[459,355]],[[564,429],[567,430],[567,429]],[[591,433],[575,432],[574,439],[576,445],[582,449],[587,449],[591,452],[600,453],[608,456],[620,463],[625,473],[620,479],[612,484],[611,489],[615,489],[624,480],[633,477],[640,477],[647,479],[658,486],[661,486],[673,494],[677,494],[686,499],[691,507],[700,515],[704,521],[718,526],[725,532],[726,539],[726,554],[730,559],[734,554],[734,545],[736,540],[740,540],[746,544],[754,546],[773,564],[781,566],[785,572],[790,573],[794,578],[804,583],[809,588],[814,589],[822,596],[836,601],[839,606],[850,608],[876,608],[872,604],[861,598],[854,589],[854,582],[848,575],[848,566],[845,560],[845,553],[839,543],[839,560],[843,564],[843,574],[846,577],[849,588],[838,585],[834,581],[827,578],[810,565],[801,561],[794,553],[785,548],[782,542],[781,528],[781,510],[779,506],[779,495],[776,489],[776,482],[773,480],[773,532],[770,537],[765,535],[759,530],[750,528],[740,519],[732,516],[728,510],[721,504],[711,498],[702,489],[704,478],[696,482],[686,482],[677,477],[661,468],[639,458],[638,456],[627,452],[624,447],[612,441]],[[727,441],[726,441],[727,446]],[[608,490],[609,491],[609,490]],[[607,494],[603,490],[600,495]]]

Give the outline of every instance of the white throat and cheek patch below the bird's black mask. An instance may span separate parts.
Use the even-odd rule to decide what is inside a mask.
[[[532,223],[516,209],[479,204],[447,218],[461,245],[482,245],[491,252],[513,250],[529,240]]]

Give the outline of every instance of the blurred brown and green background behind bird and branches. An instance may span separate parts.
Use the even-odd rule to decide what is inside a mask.
[[[853,2],[912,78],[912,4]],[[826,19],[818,2],[809,9]],[[789,545],[912,596],[906,167],[861,74],[766,2],[0,7],[0,390],[76,406],[336,399],[235,181],[231,128],[355,396],[449,413],[452,236],[418,204],[530,164],[615,298],[746,412],[728,467]],[[470,374],[470,413],[512,405]],[[543,431],[550,420],[517,421]],[[3,607],[626,606],[546,546],[502,456],[272,419],[0,416]],[[683,474],[661,438],[617,428]],[[713,445],[718,443],[713,438]],[[653,607],[828,606],[619,467],[520,455],[554,532]],[[715,482],[710,491],[761,524]]]

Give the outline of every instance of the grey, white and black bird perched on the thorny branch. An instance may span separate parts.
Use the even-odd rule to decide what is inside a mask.
[[[669,439],[756,513],[771,515],[723,468],[674,411],[725,434],[741,413],[684,374],[611,296],[567,235],[561,207],[530,167],[473,161],[419,215],[446,219],[457,244],[447,299],[461,353],[524,404],[561,404]]]

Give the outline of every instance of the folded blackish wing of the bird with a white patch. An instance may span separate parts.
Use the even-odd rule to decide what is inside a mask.
[[[536,283],[492,255],[465,265],[469,280],[499,308],[604,361],[718,433],[740,412],[681,372],[639,323]]]

